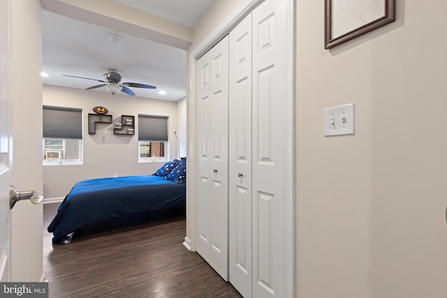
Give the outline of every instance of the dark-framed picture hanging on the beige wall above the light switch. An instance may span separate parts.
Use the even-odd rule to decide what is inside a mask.
[[[325,49],[396,20],[396,0],[325,0]]]

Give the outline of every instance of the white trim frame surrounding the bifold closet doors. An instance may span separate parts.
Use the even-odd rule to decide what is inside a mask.
[[[197,60],[205,54],[210,48],[219,42],[224,36],[251,13],[256,6],[264,0],[243,0],[239,6],[228,15],[202,43],[198,44],[189,53],[189,96],[187,97],[187,176],[194,177],[186,181],[186,237],[184,238],[184,246],[190,251],[196,251],[196,169],[198,167],[197,144],[196,138],[196,107],[197,107]],[[295,220],[295,1],[293,0],[277,0],[281,3],[281,9],[286,17],[286,106],[287,111],[284,114],[284,146],[288,152],[288,163],[286,165],[284,185],[286,190],[286,204],[284,204],[284,218],[286,225],[284,226],[284,234],[287,243],[284,245],[284,278],[288,289],[285,289],[287,297],[295,297],[295,240],[296,240],[296,220]]]

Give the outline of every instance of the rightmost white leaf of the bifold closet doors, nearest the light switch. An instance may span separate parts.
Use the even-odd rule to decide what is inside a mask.
[[[281,131],[284,110],[277,70],[281,49],[275,2],[266,0],[253,16],[253,297],[283,297]],[[284,78],[283,78],[284,80]]]

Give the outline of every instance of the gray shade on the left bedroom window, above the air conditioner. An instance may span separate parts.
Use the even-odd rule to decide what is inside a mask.
[[[43,137],[82,140],[82,110],[44,105]]]

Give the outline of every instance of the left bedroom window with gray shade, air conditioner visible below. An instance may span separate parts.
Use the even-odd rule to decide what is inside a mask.
[[[82,165],[82,110],[43,106],[43,165]]]

